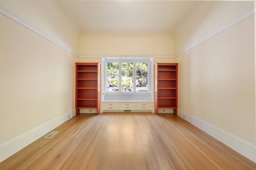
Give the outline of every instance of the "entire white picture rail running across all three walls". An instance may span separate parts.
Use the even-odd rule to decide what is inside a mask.
[[[11,18],[12,20],[18,22],[19,24],[27,27],[28,29],[34,31],[35,33],[37,33],[38,35],[41,35],[42,37],[48,39],[49,41],[57,44],[58,46],[64,48],[65,50],[71,52],[72,54],[81,57],[81,58],[122,58],[122,57],[127,57],[127,58],[175,58],[177,56],[179,56],[180,54],[183,54],[184,52],[190,50],[191,48],[194,48],[195,46],[203,43],[204,41],[214,37],[215,35],[221,33],[222,31],[228,29],[229,27],[237,24],[240,21],[243,21],[245,18],[253,15],[256,13],[256,7],[248,10],[247,12],[241,14],[240,16],[236,17],[235,19],[233,19],[232,21],[228,22],[227,24],[223,25],[222,27],[219,27],[218,29],[216,29],[215,31],[213,31],[212,33],[206,35],[205,37],[201,38],[199,41],[191,44],[190,46],[188,46],[187,48],[184,48],[182,51],[178,52],[175,55],[78,55],[76,52],[74,52],[73,50],[71,50],[70,48],[64,46],[62,43],[58,42],[56,39],[50,37],[49,35],[45,34],[44,32],[42,32],[41,30],[37,29],[36,27],[34,27],[33,25],[29,24],[28,22],[24,21],[23,19],[21,19],[20,17],[16,16],[15,14],[13,14],[12,12],[8,11],[7,9],[3,8],[2,6],[0,6],[0,13],[4,14],[5,16]]]

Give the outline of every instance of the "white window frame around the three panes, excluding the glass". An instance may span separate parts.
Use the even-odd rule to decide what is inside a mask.
[[[138,93],[150,93],[152,94],[152,82],[153,82],[153,59],[152,58],[102,58],[102,94],[138,94]],[[119,63],[119,91],[108,92],[107,91],[107,63]],[[148,63],[147,64],[147,91],[136,91],[136,81],[133,81],[133,91],[122,91],[122,65],[121,63],[133,63],[133,78],[136,80],[136,63]]]

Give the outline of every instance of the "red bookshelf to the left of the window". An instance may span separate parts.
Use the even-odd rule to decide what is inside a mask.
[[[100,64],[76,63],[76,115],[80,109],[100,107]]]

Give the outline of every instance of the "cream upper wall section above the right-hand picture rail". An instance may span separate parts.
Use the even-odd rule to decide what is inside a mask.
[[[174,30],[175,53],[253,8],[253,1],[205,1]]]

